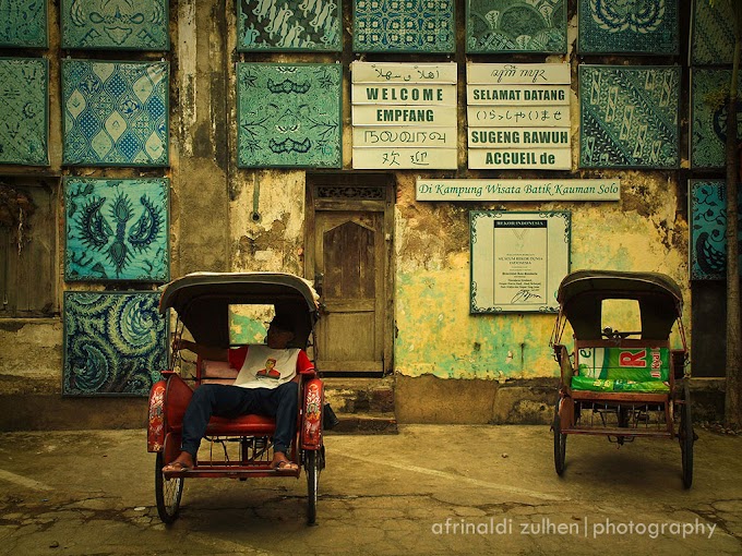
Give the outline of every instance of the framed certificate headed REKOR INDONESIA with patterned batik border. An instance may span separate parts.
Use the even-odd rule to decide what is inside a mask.
[[[555,313],[570,273],[569,211],[471,210],[470,313]]]

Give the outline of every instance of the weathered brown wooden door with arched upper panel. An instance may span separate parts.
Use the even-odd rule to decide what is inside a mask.
[[[386,203],[318,198],[313,205],[308,262],[322,303],[318,368],[381,374],[391,368],[392,349]]]

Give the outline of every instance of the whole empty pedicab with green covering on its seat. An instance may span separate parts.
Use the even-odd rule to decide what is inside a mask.
[[[683,485],[690,488],[696,436],[678,285],[657,273],[578,270],[562,280],[556,300],[550,342],[561,370],[551,426],[556,473],[564,472],[571,435],[605,435],[619,445],[678,438]],[[601,328],[607,300],[634,300],[641,329]],[[572,354],[562,343],[567,322],[574,334]],[[682,349],[670,345],[675,324]]]

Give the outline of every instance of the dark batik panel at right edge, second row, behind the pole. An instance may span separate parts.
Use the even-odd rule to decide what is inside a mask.
[[[723,168],[727,145],[728,70],[691,70],[691,168]],[[738,82],[742,98],[742,76]],[[738,105],[739,106],[739,105]],[[737,136],[742,141],[742,110],[737,110]]]

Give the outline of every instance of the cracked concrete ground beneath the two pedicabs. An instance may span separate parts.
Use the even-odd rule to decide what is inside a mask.
[[[155,507],[143,430],[0,433],[0,555],[741,554],[742,437],[698,431],[693,487],[677,442],[548,426],[405,425],[327,436],[318,527],[306,480],[192,479]]]

